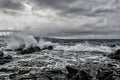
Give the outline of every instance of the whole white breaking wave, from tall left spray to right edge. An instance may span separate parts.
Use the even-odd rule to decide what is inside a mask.
[[[107,52],[111,53],[119,48],[117,47],[109,47],[105,45],[92,45],[87,43],[76,43],[75,45],[61,45],[59,43],[52,43],[50,41],[45,41],[44,39],[40,39],[37,41],[32,35],[27,34],[12,34],[11,38],[6,41],[7,49],[16,49],[19,47],[29,48],[31,46],[38,46],[40,48],[44,48],[46,46],[53,46],[54,50],[62,50],[62,51],[97,51],[97,52]]]

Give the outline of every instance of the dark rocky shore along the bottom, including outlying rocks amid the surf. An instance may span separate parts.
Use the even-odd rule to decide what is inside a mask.
[[[52,46],[40,49],[39,47],[30,47],[27,49],[17,50],[17,54],[26,55],[42,50],[53,50]],[[46,56],[47,57],[47,56]],[[0,68],[1,80],[120,80],[120,68],[116,64],[120,64],[120,50],[115,53],[108,54],[106,62],[92,62],[77,65],[67,65],[62,69],[42,69],[40,66],[46,65],[40,62],[21,62],[21,67]],[[13,57],[4,55],[0,52],[0,65],[12,62]],[[35,64],[36,68],[33,68]],[[39,65],[39,66],[38,66]],[[29,67],[28,67],[29,66]]]

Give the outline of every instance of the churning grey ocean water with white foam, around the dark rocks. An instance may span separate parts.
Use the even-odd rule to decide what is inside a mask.
[[[7,69],[32,69],[39,72],[50,69],[65,69],[67,65],[83,66],[84,68],[99,67],[106,63],[113,63],[119,68],[119,62],[109,59],[106,55],[120,49],[119,39],[54,39],[35,38],[32,35],[12,34],[8,38],[0,38],[0,49],[5,55],[11,55],[13,61],[0,65]],[[30,46],[53,46],[53,50],[43,50],[31,54],[20,55],[16,48],[25,45]],[[11,49],[12,51],[7,51]],[[8,76],[11,72],[0,72],[1,76]],[[93,72],[91,75],[94,75]]]

